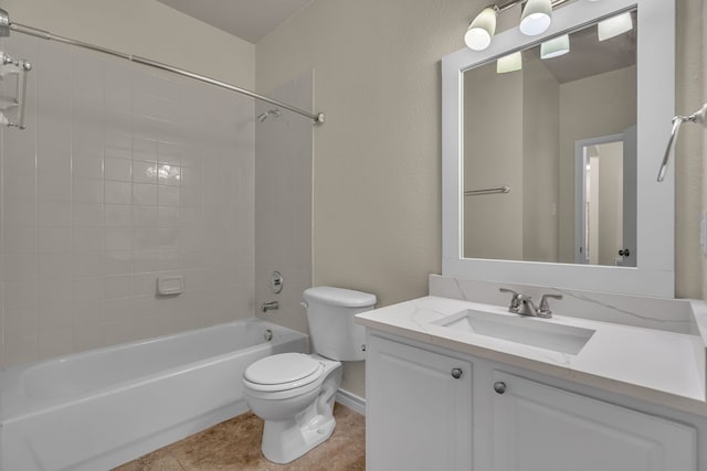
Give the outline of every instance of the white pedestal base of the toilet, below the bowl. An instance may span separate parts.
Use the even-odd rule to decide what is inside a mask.
[[[326,441],[334,432],[335,427],[334,416],[325,417],[323,415],[315,415],[304,421],[265,420],[263,456],[278,464],[294,461]]]

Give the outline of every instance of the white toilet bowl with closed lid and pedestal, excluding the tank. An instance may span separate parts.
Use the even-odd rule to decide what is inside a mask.
[[[265,420],[261,447],[265,458],[288,463],[334,432],[341,363],[302,353],[283,353],[256,363],[243,377],[245,402]]]

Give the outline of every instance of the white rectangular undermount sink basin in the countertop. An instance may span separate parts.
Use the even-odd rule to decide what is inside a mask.
[[[432,324],[570,355],[577,355],[595,332],[592,329],[556,324],[545,319],[494,314],[472,309],[447,315]]]

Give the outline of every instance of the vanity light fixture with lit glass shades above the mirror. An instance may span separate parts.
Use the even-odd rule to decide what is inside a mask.
[[[496,18],[499,13],[525,3],[518,29],[528,36],[545,33],[552,22],[552,9],[569,0],[508,0],[502,4],[485,7],[468,25],[464,43],[474,51],[486,50],[496,33]],[[597,0],[589,0],[597,1]]]

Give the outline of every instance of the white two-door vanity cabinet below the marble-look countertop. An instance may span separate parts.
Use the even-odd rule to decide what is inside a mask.
[[[500,363],[369,331],[366,368],[372,471],[697,471],[695,427]]]

